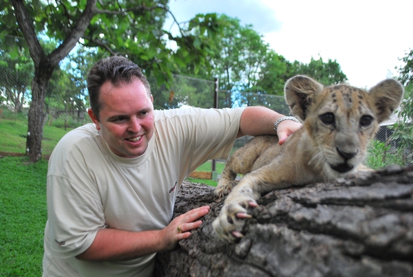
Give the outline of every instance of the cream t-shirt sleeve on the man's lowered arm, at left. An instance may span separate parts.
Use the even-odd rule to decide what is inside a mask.
[[[45,240],[54,255],[67,258],[92,245],[96,232],[105,228],[105,216],[94,176],[81,153],[74,147],[65,159],[65,151],[57,152],[47,173]]]

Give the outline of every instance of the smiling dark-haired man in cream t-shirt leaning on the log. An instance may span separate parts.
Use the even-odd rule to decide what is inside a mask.
[[[65,135],[50,157],[43,276],[151,276],[156,252],[198,228],[209,207],[173,219],[176,194],[236,137],[273,134],[282,115],[264,107],[154,111],[138,66],[114,56],[88,81],[94,124]],[[299,128],[278,125],[280,142]]]

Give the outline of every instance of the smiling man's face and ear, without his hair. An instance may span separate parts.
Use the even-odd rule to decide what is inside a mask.
[[[139,157],[147,150],[153,135],[153,98],[136,79],[128,85],[114,87],[107,81],[100,88],[102,109],[99,121],[88,110],[96,129],[120,157]]]

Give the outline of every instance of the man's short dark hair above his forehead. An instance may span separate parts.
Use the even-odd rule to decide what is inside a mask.
[[[102,109],[102,103],[99,100],[100,87],[106,81],[112,85],[127,85],[137,78],[145,86],[148,96],[151,97],[151,87],[142,69],[131,60],[123,56],[112,56],[99,60],[87,76],[87,90],[89,91],[89,101],[92,111],[99,120],[99,112]]]

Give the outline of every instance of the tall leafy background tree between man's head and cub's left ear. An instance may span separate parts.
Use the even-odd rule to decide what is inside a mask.
[[[205,65],[195,77],[208,80],[219,78],[221,105],[231,107],[234,91],[256,90],[268,44],[264,43],[262,35],[253,30],[252,25],[241,25],[239,19],[225,14],[220,14],[219,19],[226,25],[213,42],[215,47],[207,58],[211,70]],[[178,72],[184,75],[192,75],[191,71],[192,65],[178,68]]]

